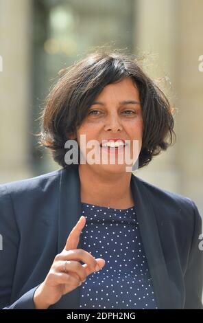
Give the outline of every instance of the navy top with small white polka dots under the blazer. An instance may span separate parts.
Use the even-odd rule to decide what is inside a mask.
[[[82,309],[157,309],[135,208],[81,203],[86,225],[82,249],[106,265],[82,283]]]

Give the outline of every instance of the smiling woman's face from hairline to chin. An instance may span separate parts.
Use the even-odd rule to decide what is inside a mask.
[[[136,140],[135,155],[137,159],[141,151],[143,135],[139,90],[131,78],[124,78],[120,82],[104,87],[90,107],[88,115],[77,129],[77,142],[80,145],[80,150],[83,155],[85,153],[87,155],[90,151],[93,151],[93,146],[92,148],[84,147],[81,135],[86,135],[86,144],[89,140],[96,140],[98,143],[95,153],[97,158],[99,157],[99,164],[87,162],[87,167],[99,172],[126,172],[126,166],[129,166],[129,162],[126,164],[125,155],[128,152],[130,153],[129,157],[133,158],[133,141]],[[108,143],[107,147],[105,144],[102,146],[104,140],[105,144]],[[125,140],[130,142],[123,146],[122,141]],[[115,148],[115,142],[117,142],[116,145],[119,148]],[[131,166],[136,159],[131,163]],[[122,160],[123,164],[120,164]]]

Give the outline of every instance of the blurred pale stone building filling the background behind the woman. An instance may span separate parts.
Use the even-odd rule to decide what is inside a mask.
[[[145,69],[167,75],[177,108],[175,146],[136,175],[203,214],[202,12],[202,0],[0,0],[0,183],[58,168],[33,135],[43,100],[60,69],[108,45],[152,54]]]

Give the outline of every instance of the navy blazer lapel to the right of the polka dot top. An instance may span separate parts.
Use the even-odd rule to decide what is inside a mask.
[[[158,309],[176,309],[152,203],[145,187],[134,175],[131,178],[131,188]]]

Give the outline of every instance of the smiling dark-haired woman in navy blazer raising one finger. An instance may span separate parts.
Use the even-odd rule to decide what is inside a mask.
[[[202,308],[195,204],[119,163],[139,155],[147,165],[173,127],[167,98],[130,56],[93,54],[65,71],[41,133],[62,168],[1,186],[1,308]],[[90,162],[82,136],[106,162]],[[79,145],[79,165],[67,140]]]

